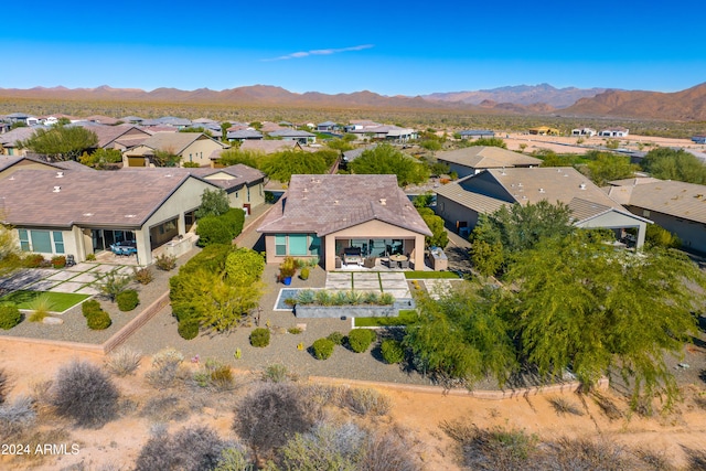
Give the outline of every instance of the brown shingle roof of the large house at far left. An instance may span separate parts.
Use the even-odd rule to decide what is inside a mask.
[[[20,170],[2,181],[0,199],[7,222],[17,226],[135,228],[190,178],[195,176],[150,171],[66,172],[56,178],[54,172]],[[55,192],[55,186],[61,190]]]

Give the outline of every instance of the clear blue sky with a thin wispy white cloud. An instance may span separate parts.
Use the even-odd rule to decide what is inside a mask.
[[[706,82],[703,6],[622,2],[6,2],[0,88],[265,84],[421,95]]]

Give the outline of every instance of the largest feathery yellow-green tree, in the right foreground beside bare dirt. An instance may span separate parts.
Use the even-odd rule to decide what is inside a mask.
[[[545,238],[516,256],[505,304],[521,354],[542,374],[570,368],[587,386],[619,371],[641,397],[677,396],[665,352],[678,354],[696,331],[706,275],[676,251],[616,251],[578,229]],[[648,400],[644,404],[650,404]]]

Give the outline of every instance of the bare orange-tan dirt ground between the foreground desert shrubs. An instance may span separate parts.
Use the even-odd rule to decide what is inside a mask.
[[[706,357],[706,349],[703,344],[692,345],[686,354],[684,362],[691,362],[691,367],[676,372],[683,385],[684,402],[675,414],[651,418],[630,414],[625,402],[610,390],[607,395],[621,410],[622,418],[610,420],[591,398],[586,398],[581,405],[580,397],[573,393],[565,393],[563,397],[578,405],[584,411],[581,416],[558,416],[548,402],[557,395],[481,400],[394,387],[381,389],[391,396],[394,404],[388,420],[414,433],[417,439],[414,452],[420,456],[425,469],[459,469],[452,452],[453,443],[439,429],[440,421],[456,418],[468,419],[481,428],[501,426],[524,429],[544,439],[591,437],[629,447],[649,447],[651,451],[663,453],[682,467],[685,464],[685,449],[703,450],[706,442],[706,384],[703,377],[699,378],[699,373],[703,376],[704,372],[698,367]],[[12,379],[10,399],[19,394],[31,393],[33,385],[50,379],[58,366],[77,357],[97,364],[103,362],[99,355],[0,341],[0,368],[4,368]],[[141,378],[147,370],[148,362],[143,361],[138,376],[117,381],[121,393],[136,403],[156,394]],[[684,375],[680,376],[681,373]],[[339,383],[345,384],[345,381],[340,379]],[[170,430],[180,429],[188,422],[211,425],[223,438],[234,439],[229,430],[232,421],[229,408],[206,407],[186,421],[172,420],[168,425]],[[99,470],[108,463],[118,467],[113,469],[129,469],[147,440],[151,425],[150,420],[130,414],[98,430],[67,426],[68,436],[63,438],[63,442],[77,443],[77,454],[44,457],[43,460],[38,457],[4,456],[0,457],[0,468],[57,470],[83,462],[86,470]]]

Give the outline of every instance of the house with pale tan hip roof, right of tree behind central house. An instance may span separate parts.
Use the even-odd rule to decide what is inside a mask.
[[[449,165],[460,178],[479,173],[486,169],[517,167],[539,167],[541,159],[513,152],[500,147],[472,146],[463,149],[437,152],[437,160]]]

